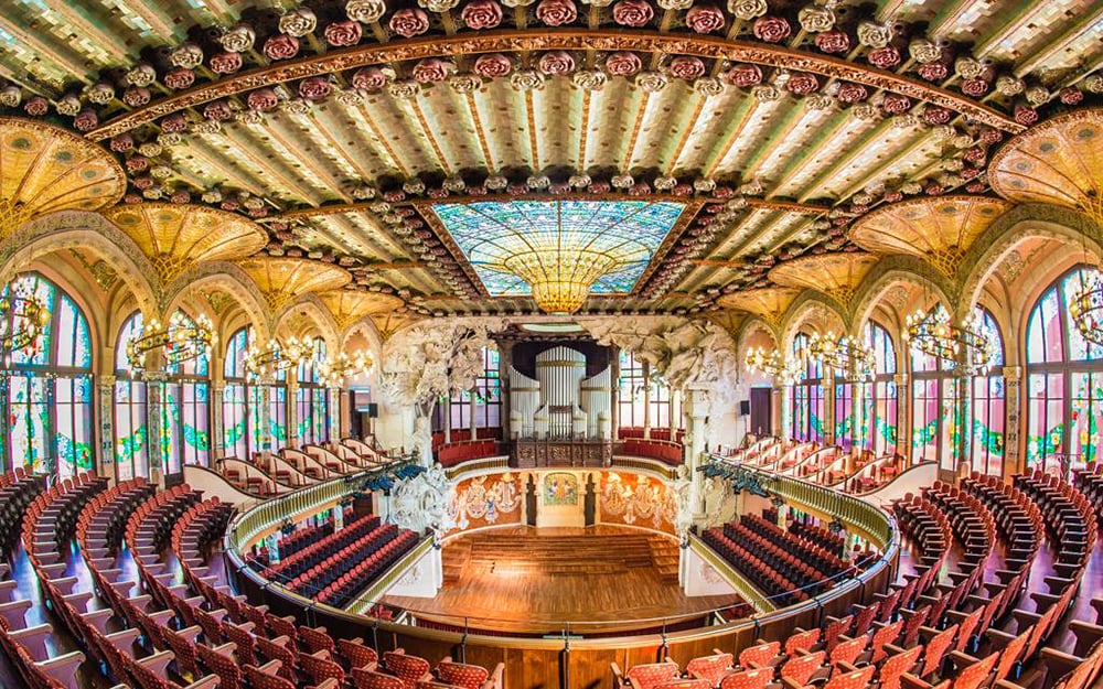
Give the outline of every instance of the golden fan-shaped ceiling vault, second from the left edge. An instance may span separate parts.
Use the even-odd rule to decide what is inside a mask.
[[[106,215],[149,257],[162,286],[192,266],[251,256],[267,241],[253,220],[203,206],[143,203]]]

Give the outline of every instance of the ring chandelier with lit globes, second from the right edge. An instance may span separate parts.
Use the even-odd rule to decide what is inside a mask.
[[[957,326],[950,322],[944,309],[931,313],[918,311],[908,316],[906,324],[912,349],[933,356],[944,368],[962,376],[988,373],[998,356],[996,341],[981,330],[976,313]]]

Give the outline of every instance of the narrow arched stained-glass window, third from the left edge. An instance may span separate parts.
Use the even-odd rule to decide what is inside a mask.
[[[223,377],[226,389],[222,398],[223,446],[226,456],[246,460],[260,451],[259,386],[251,384],[245,373],[245,353],[249,348],[253,327],[236,331],[226,342],[226,360]]]

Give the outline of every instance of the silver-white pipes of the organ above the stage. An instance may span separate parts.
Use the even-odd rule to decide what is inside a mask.
[[[521,439],[610,437],[611,372],[586,378],[586,355],[556,346],[536,355],[536,379],[510,367],[510,433]]]

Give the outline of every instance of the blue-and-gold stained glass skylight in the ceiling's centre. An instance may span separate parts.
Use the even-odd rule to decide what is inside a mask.
[[[492,297],[532,293],[522,274],[532,274],[533,261],[556,257],[566,257],[567,270],[574,269],[572,262],[600,263],[592,269],[600,274],[588,286],[590,292],[628,293],[684,208],[679,203],[646,201],[486,201],[432,206]],[[578,272],[585,269],[579,267]]]

